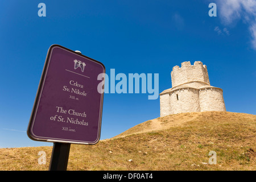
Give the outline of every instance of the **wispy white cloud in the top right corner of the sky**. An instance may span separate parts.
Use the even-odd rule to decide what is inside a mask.
[[[251,44],[256,50],[256,0],[217,0],[220,18],[225,25],[234,25],[238,20],[250,30]]]

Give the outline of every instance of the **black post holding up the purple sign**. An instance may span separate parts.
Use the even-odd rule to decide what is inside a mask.
[[[49,171],[67,171],[70,143],[53,143]]]

